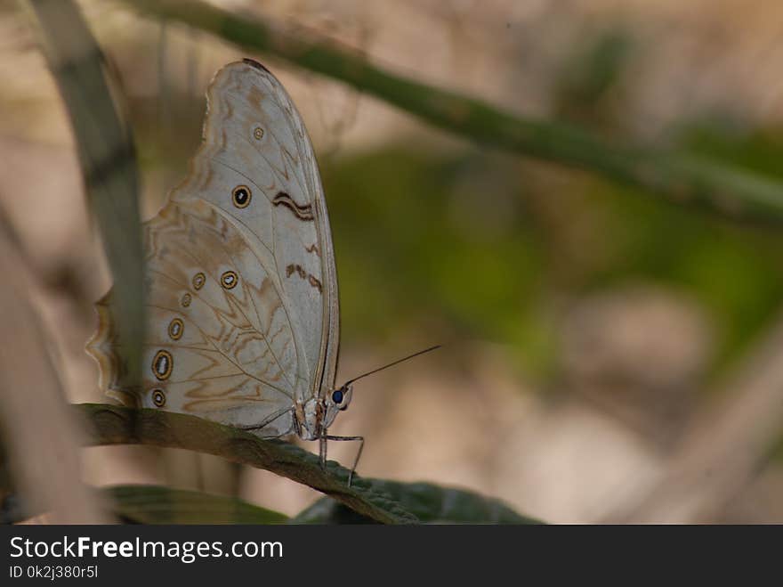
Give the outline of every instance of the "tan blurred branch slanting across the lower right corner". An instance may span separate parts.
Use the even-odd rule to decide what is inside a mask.
[[[783,320],[690,428],[664,475],[609,522],[715,519],[768,459],[783,432]]]

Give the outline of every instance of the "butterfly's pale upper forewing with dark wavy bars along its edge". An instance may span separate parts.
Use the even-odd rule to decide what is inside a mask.
[[[250,62],[219,71],[207,98],[194,172],[172,198],[209,201],[246,233],[265,266],[274,267],[270,273],[292,309],[300,393],[333,387],[339,340],[334,253],[302,118],[278,80]],[[244,199],[236,198],[237,190]]]

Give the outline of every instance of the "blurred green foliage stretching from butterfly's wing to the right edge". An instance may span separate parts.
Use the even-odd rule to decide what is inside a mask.
[[[725,135],[699,136],[706,147],[731,149]],[[756,147],[774,159],[767,140],[744,144],[735,152]],[[547,184],[546,173],[477,151],[444,156],[409,147],[327,167],[346,337],[440,326],[447,339],[512,345],[541,375],[557,357],[553,300],[650,281],[704,304],[720,329],[719,368],[776,311],[780,235],[599,181]],[[557,207],[556,230],[549,206]],[[585,232],[595,250],[577,264],[562,249]]]

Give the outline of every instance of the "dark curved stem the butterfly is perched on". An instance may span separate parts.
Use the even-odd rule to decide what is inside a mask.
[[[262,440],[238,428],[174,412],[109,404],[78,404],[74,408],[87,420],[88,444],[148,444],[215,454],[309,485],[383,524],[418,521],[365,479],[354,476],[349,487],[348,469],[329,461],[323,470],[316,455],[282,440]]]

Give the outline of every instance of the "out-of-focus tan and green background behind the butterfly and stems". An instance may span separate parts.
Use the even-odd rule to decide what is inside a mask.
[[[783,174],[783,4],[214,4],[526,116]],[[124,6],[79,5],[121,80],[146,219],[185,173],[210,77],[245,55]],[[0,209],[69,401],[101,402],[84,345],[109,274],[68,118],[14,2],[0,2],[0,54]],[[550,522],[783,522],[778,232],[480,148],[256,57],[319,153],[342,295],[338,379],[446,344],[357,384],[331,431],[367,437],[362,476],[465,487]],[[333,444],[350,462],[355,447]],[[93,485],[198,487],[287,514],[319,497],[192,453],[83,454]]]

